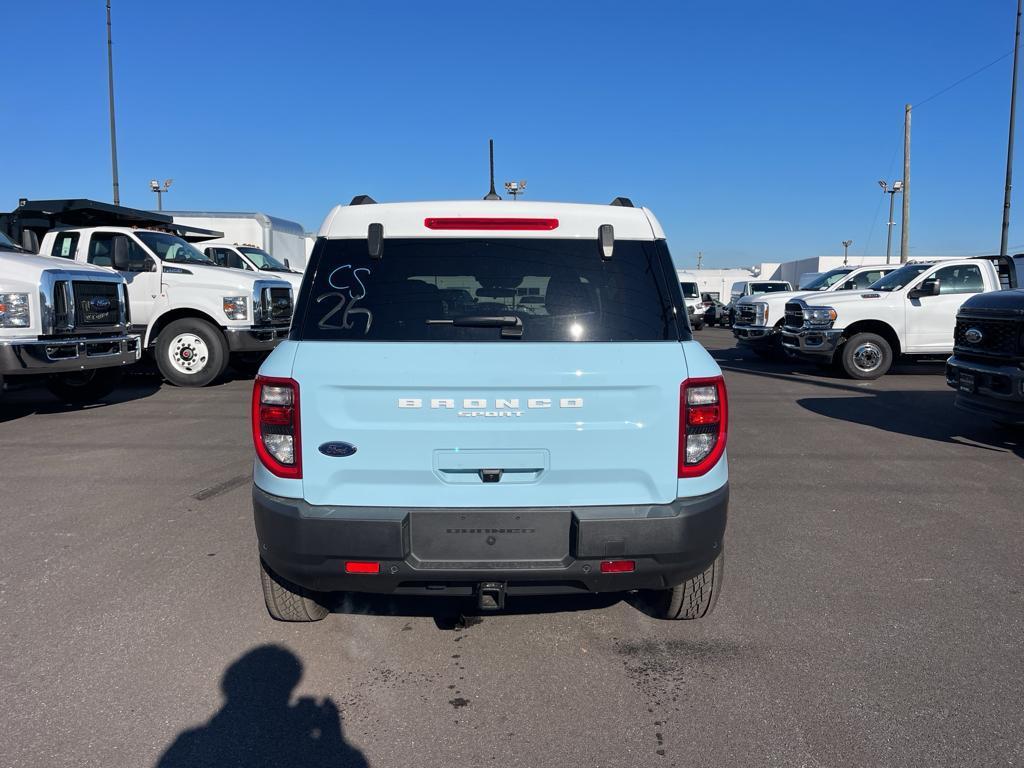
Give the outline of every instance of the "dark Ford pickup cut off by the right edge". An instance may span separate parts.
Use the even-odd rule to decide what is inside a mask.
[[[1024,290],[1018,268],[1009,289],[972,296],[956,313],[946,383],[956,408],[1000,424],[1024,426]],[[1010,262],[1011,264],[1013,262]]]

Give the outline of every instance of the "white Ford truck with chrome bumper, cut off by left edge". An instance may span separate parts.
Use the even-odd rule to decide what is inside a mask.
[[[109,394],[136,362],[124,278],[33,254],[0,231],[0,392],[38,381],[66,402]]]

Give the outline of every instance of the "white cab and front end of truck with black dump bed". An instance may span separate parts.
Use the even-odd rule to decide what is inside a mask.
[[[40,252],[108,267],[128,284],[132,329],[177,386],[206,386],[238,355],[269,352],[288,335],[292,286],[217,266],[168,231],[131,226],[52,229]]]

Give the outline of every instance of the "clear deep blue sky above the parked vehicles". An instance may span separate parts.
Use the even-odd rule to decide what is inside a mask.
[[[494,136],[499,183],[629,196],[680,264],[881,253],[904,102],[1010,51],[1015,6],[114,0],[121,200],[152,207],[171,176],[168,207],[315,229],[355,194],[482,196]],[[110,200],[103,0],[3,17],[0,208]],[[1010,75],[914,113],[911,253],[997,250]],[[1024,250],[1024,154],[1018,175]]]

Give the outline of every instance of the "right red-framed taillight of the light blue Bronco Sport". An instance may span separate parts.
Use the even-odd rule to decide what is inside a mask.
[[[722,458],[728,435],[725,380],[687,379],[679,388],[679,476],[702,475]]]

